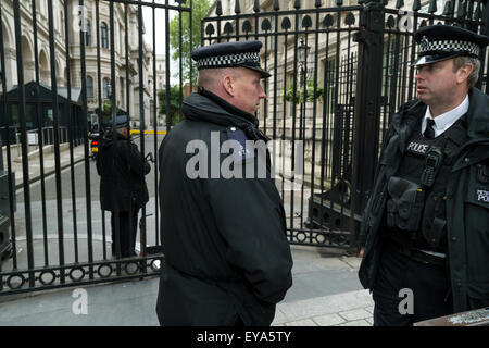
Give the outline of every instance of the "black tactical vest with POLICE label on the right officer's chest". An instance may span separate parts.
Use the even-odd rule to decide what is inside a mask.
[[[419,128],[412,133],[388,184],[388,237],[409,248],[446,252],[447,177],[466,133],[465,115],[435,139],[425,138]]]

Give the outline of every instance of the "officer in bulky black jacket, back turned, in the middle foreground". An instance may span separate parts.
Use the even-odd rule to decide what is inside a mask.
[[[266,160],[247,148],[267,140],[254,115],[266,97],[260,79],[269,76],[261,47],[226,42],[191,52],[198,92],[183,102],[184,120],[159,154],[162,325],[269,325],[292,284],[281,199]],[[247,169],[254,173],[241,175]],[[254,175],[262,170],[265,177]]]

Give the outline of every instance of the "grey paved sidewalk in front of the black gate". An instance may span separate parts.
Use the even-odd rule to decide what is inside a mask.
[[[293,285],[277,306],[274,326],[371,326],[373,301],[356,276],[360,259],[292,246]],[[0,297],[2,326],[155,326],[159,278],[93,285],[87,314],[76,315],[75,288]]]

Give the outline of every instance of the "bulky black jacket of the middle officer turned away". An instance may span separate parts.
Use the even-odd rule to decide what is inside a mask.
[[[223,144],[234,135],[264,137],[253,115],[201,92],[184,101],[185,120],[160,146],[165,262],[156,312],[162,325],[269,325],[275,304],[292,285],[285,212],[274,182],[212,178],[211,167],[208,177],[188,173],[198,148],[209,154],[210,165],[211,156],[217,156],[217,165],[229,156],[211,148],[216,138]]]

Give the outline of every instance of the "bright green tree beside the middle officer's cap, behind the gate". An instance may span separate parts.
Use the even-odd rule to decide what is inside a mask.
[[[174,50],[172,59],[179,60],[181,42],[181,77],[184,82],[190,82],[190,52],[200,46],[201,22],[208,15],[211,9],[210,0],[192,1],[192,47],[190,49],[190,29],[188,12],[181,13],[181,37],[179,32],[180,16],[175,16],[170,22],[170,46]],[[192,74],[192,85],[196,85],[197,73]]]

